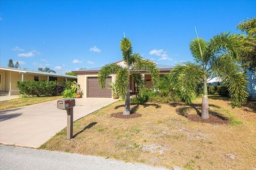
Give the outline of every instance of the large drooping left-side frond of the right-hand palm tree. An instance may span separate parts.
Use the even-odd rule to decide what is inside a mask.
[[[192,102],[193,96],[197,94],[198,86],[202,83],[205,72],[201,66],[186,62],[178,64],[170,72],[173,90],[187,103]]]

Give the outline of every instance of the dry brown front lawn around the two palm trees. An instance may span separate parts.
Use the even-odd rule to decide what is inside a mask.
[[[188,115],[198,115],[195,108],[200,112],[201,101],[195,100],[194,106],[182,103],[132,105],[133,111],[141,114],[141,117],[129,119],[111,117],[113,113],[123,112],[123,103],[118,101],[76,121],[74,139],[66,140],[64,129],[41,149],[110,157],[167,168],[256,167],[256,102],[232,109],[228,100],[210,98],[210,112],[228,117],[230,124],[195,122],[176,112],[180,107],[189,107]]]

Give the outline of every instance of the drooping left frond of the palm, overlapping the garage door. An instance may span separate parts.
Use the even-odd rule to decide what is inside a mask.
[[[105,82],[109,75],[116,73],[122,67],[117,65],[116,63],[110,63],[103,66],[98,74],[98,82],[102,89],[105,89]]]

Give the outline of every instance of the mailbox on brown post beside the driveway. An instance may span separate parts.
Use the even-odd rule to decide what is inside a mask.
[[[73,138],[73,107],[75,99],[60,99],[57,101],[57,108],[67,111],[67,139]]]

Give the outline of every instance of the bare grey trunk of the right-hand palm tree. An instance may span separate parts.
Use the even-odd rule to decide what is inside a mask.
[[[202,115],[203,119],[209,118],[209,101],[208,101],[208,91],[207,91],[207,79],[204,80],[204,96],[202,101]]]

